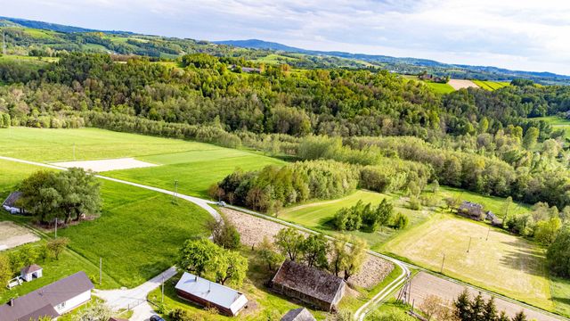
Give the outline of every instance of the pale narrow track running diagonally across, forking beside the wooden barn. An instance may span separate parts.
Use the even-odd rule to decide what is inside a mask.
[[[29,165],[35,165],[35,166],[38,166],[38,167],[50,168],[50,169],[67,170],[67,169],[65,169],[65,168],[61,168],[61,167],[54,166],[54,165],[50,165],[50,164],[46,164],[46,163],[41,163],[41,162],[37,162],[37,161],[24,161],[24,160],[15,159],[15,158],[12,158],[12,157],[0,156],[0,160],[4,160],[4,161],[15,161],[15,162],[20,162],[20,163],[25,163],[25,164],[29,164]],[[212,202],[212,201],[200,199],[200,198],[194,197],[194,196],[184,195],[184,194],[181,194],[181,193],[175,193],[175,192],[168,191],[168,190],[162,189],[162,188],[157,188],[157,187],[154,187],[154,186],[137,184],[137,183],[125,181],[125,180],[122,180],[122,179],[117,179],[117,178],[112,178],[112,177],[105,177],[105,176],[102,176],[102,175],[95,175],[95,177],[98,177],[98,178],[101,178],[101,179],[110,180],[110,181],[113,181],[113,182],[116,182],[116,183],[121,183],[121,184],[126,184],[126,185],[132,185],[132,186],[136,186],[136,187],[148,189],[148,190],[155,191],[155,192],[159,192],[159,193],[166,193],[166,194],[168,194],[168,195],[172,195],[172,196],[181,198],[181,199],[183,199],[183,200],[186,200],[186,201],[189,201],[189,202],[193,202],[193,203],[195,203],[196,205],[198,205],[200,208],[202,208],[202,209],[204,209],[204,210],[207,210],[208,213],[209,213],[210,215],[212,215],[214,218],[216,218],[216,219],[221,219],[221,216],[220,216],[220,214],[217,212],[217,210],[214,209],[214,208],[211,206],[211,205],[215,204],[216,202]],[[259,218],[264,218],[264,219],[272,220],[273,222],[280,223],[281,225],[284,225],[284,226],[294,227],[294,228],[296,228],[296,229],[298,229],[298,230],[304,231],[305,233],[318,234],[318,232],[315,232],[315,231],[312,230],[312,229],[306,228],[305,226],[299,226],[299,225],[297,225],[297,224],[293,224],[293,223],[290,223],[290,222],[288,222],[288,221],[281,220],[281,219],[279,219],[279,218],[269,217],[269,216],[267,216],[267,215],[258,213],[258,212],[253,211],[253,210],[247,210],[247,209],[243,209],[243,208],[240,208],[240,207],[237,207],[237,206],[231,206],[231,205],[228,205],[227,207],[230,208],[230,209],[232,209],[232,210],[239,210],[239,211],[241,211],[241,212],[244,212],[244,213],[247,213],[247,214],[249,214],[249,215],[253,215],[253,216],[259,217]],[[333,237],[331,237],[331,236],[329,236],[329,235],[325,235],[325,237],[326,237],[327,239],[329,239],[329,240],[335,240],[335,238],[333,238]],[[471,288],[475,289],[476,291],[485,292],[485,293],[487,293],[487,294],[489,294],[489,295],[493,295],[494,297],[501,298],[502,300],[508,300],[508,301],[510,301],[510,302],[513,302],[513,303],[516,303],[516,304],[520,305],[521,307],[524,307],[525,309],[532,309],[532,310],[534,310],[534,311],[541,312],[541,313],[543,313],[543,314],[545,314],[545,315],[548,315],[548,316],[550,316],[550,317],[556,317],[556,318],[561,319],[561,320],[569,320],[569,321],[570,321],[569,318],[558,316],[557,314],[554,314],[554,313],[552,313],[552,312],[550,312],[550,311],[546,311],[546,310],[543,310],[543,309],[539,309],[539,308],[533,307],[533,306],[528,305],[528,304],[526,304],[526,303],[524,303],[524,302],[520,302],[520,301],[517,301],[517,300],[510,299],[510,298],[505,297],[505,296],[503,296],[503,295],[501,295],[501,294],[499,294],[499,293],[487,291],[487,290],[485,290],[485,289],[476,287],[476,286],[471,285],[471,284],[466,284],[466,283],[464,283],[464,282],[461,282],[460,280],[456,280],[456,279],[453,279],[453,278],[448,277],[448,276],[441,276],[441,275],[436,274],[436,273],[434,273],[433,271],[430,271],[430,270],[428,270],[428,269],[426,269],[426,268],[420,268],[420,267],[415,266],[415,265],[413,265],[413,264],[411,264],[411,263],[403,262],[403,261],[401,261],[401,260],[399,260],[399,259],[392,258],[392,257],[390,257],[390,256],[381,254],[381,253],[379,253],[379,252],[370,251],[370,250],[367,251],[367,252],[368,252],[369,254],[373,255],[373,256],[379,257],[379,258],[381,258],[381,259],[387,259],[388,261],[393,262],[395,265],[397,265],[398,267],[402,268],[402,271],[403,271],[403,272],[402,272],[402,274],[401,274],[400,276],[398,276],[397,278],[395,278],[395,280],[393,280],[390,284],[387,284],[387,286],[386,286],[384,289],[382,289],[379,293],[377,293],[371,300],[369,300],[368,302],[364,303],[361,308],[359,308],[359,309],[356,310],[356,312],[355,312],[355,314],[354,314],[354,319],[356,319],[356,320],[358,320],[358,321],[364,320],[364,318],[365,318],[368,314],[370,314],[374,309],[377,309],[377,308],[379,307],[379,305],[381,305],[382,302],[383,302],[384,300],[386,300],[387,297],[388,297],[390,294],[394,293],[394,292],[397,291],[403,284],[405,284],[405,282],[406,282],[406,281],[409,279],[409,277],[411,276],[410,268],[414,268],[414,269],[418,269],[418,270],[427,272],[427,273],[429,273],[430,275],[440,277],[440,278],[442,278],[442,279],[444,279],[444,280],[450,281],[450,282],[455,283],[455,284],[460,284],[460,285],[463,285],[463,286],[471,287]],[[166,271],[165,271],[165,272],[166,272]]]

